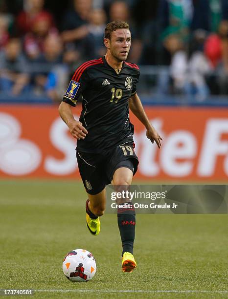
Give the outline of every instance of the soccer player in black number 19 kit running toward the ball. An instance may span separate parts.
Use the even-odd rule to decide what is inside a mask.
[[[106,185],[130,185],[137,171],[134,126],[129,108],[146,128],[146,136],[160,148],[162,138],[150,124],[137,95],[139,68],[127,63],[131,32],[124,21],[113,21],[105,28],[105,56],[79,66],[68,85],[59,113],[77,139],[79,172],[88,194],[86,223],[92,235],[100,232],[99,217],[104,214]],[[82,94],[82,112],[75,120],[71,107]],[[129,210],[129,211],[128,211]],[[133,256],[136,215],[134,209],[118,209],[122,241],[122,270],[137,265]]]

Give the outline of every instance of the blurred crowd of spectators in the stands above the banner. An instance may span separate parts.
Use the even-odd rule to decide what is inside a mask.
[[[0,0],[0,92],[59,102],[114,20],[130,24],[129,61],[166,66],[160,94],[228,94],[228,0]]]

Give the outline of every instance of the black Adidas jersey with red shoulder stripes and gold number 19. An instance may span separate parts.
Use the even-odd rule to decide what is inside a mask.
[[[137,64],[123,62],[117,74],[104,56],[76,69],[63,101],[75,106],[82,94],[79,121],[88,134],[77,141],[77,150],[98,153],[126,140],[133,142],[128,99],[136,93],[138,78]]]

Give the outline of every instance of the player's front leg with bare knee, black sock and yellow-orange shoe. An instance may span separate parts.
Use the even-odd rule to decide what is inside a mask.
[[[113,185],[118,185],[124,189],[124,186],[131,185],[133,173],[130,169],[121,167],[114,172]],[[122,190],[118,190],[122,191]],[[122,202],[123,203],[123,202]],[[123,272],[132,272],[136,268],[136,261],[133,256],[133,246],[135,240],[136,213],[134,208],[118,209],[118,227],[121,236],[122,252],[122,270]]]

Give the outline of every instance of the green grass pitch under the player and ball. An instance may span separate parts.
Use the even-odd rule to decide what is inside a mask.
[[[92,236],[85,200],[77,181],[0,181],[0,289],[34,289],[32,298],[228,298],[227,214],[138,214],[129,274],[116,215],[102,216]],[[96,258],[90,282],[63,275],[63,257],[76,248]]]

